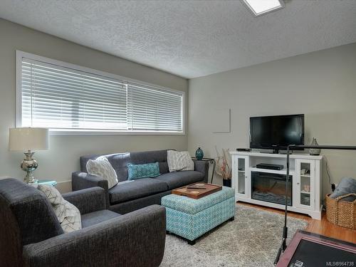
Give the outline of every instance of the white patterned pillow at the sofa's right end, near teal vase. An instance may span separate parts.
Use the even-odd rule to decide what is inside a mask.
[[[169,172],[194,171],[194,162],[188,151],[167,151]]]

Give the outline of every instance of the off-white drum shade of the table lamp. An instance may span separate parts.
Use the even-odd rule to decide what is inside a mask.
[[[10,128],[9,150],[48,150],[48,129],[46,128]]]

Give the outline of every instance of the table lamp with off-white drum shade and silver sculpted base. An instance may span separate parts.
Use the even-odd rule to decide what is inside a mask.
[[[9,129],[9,150],[23,151],[25,159],[21,162],[21,169],[26,172],[23,179],[26,183],[34,183],[33,171],[38,167],[33,158],[33,150],[48,150],[48,129],[20,127]]]

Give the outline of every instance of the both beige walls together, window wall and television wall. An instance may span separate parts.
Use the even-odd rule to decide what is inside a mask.
[[[21,152],[8,152],[15,125],[16,50],[187,92],[184,78],[80,46],[0,19],[0,178],[19,177]],[[188,103],[189,98],[189,103]],[[289,101],[288,101],[289,100]],[[38,178],[57,179],[66,191],[80,155],[174,148],[194,154],[198,146],[248,147],[248,117],[305,114],[305,142],[356,145],[356,43],[189,80],[188,137],[174,135],[51,136],[51,149],[36,153]],[[215,109],[231,108],[231,132],[213,134]],[[188,112],[187,112],[188,113]],[[355,152],[324,151],[333,182],[356,177]],[[221,182],[216,177],[215,181]],[[325,168],[323,192],[329,191]]]

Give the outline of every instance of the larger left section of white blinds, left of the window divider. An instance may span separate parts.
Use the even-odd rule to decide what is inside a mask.
[[[127,88],[103,77],[23,59],[22,125],[127,129]]]

